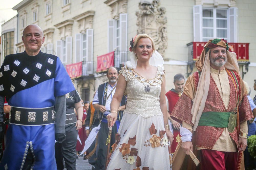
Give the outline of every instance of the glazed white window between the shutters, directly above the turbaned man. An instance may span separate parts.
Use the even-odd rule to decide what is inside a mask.
[[[218,37],[228,39],[228,10],[210,9],[202,10],[202,41]]]

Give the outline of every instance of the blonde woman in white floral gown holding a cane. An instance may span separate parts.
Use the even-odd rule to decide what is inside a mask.
[[[170,169],[169,144],[173,134],[167,118],[163,58],[147,34],[135,36],[130,45],[134,55],[119,72],[107,116],[109,127],[113,126],[126,94],[126,109],[107,169]]]

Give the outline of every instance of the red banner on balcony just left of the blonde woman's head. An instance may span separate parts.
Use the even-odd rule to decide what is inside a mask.
[[[96,72],[106,71],[110,67],[114,67],[114,51],[97,57]]]

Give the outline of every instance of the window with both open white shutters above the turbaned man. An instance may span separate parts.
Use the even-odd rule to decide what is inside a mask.
[[[194,42],[207,42],[211,38],[225,38],[237,42],[238,9],[206,8],[195,5],[193,8]]]

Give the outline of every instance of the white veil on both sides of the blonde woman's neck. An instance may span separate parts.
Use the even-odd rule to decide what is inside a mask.
[[[135,57],[135,54],[133,53],[131,55],[131,58],[130,58],[131,61],[126,61],[125,65],[129,68],[129,69],[136,69],[137,67],[137,58]],[[152,57],[150,58],[149,60],[149,64],[151,66],[155,66],[155,67],[160,67],[161,68],[161,71],[164,70],[164,59],[163,57],[161,56],[161,54],[159,54],[156,50],[155,52],[153,53]]]

